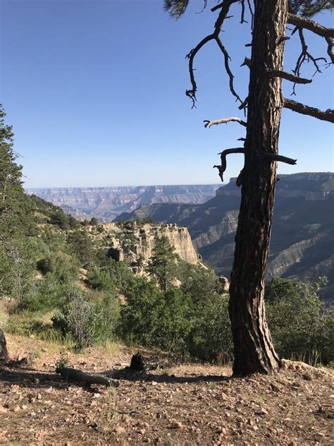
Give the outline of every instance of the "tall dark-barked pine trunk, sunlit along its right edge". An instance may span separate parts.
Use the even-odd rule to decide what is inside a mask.
[[[268,70],[282,70],[287,0],[255,0],[250,66],[245,168],[230,283],[229,313],[235,360],[234,375],[273,373],[280,360],[273,348],[264,312],[264,274],[271,236],[283,108],[281,79]]]

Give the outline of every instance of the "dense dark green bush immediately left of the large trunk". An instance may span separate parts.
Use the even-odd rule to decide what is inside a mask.
[[[218,294],[199,303],[182,289],[160,291],[147,279],[135,279],[125,292],[120,334],[144,346],[216,359],[230,357],[232,341],[227,297]]]

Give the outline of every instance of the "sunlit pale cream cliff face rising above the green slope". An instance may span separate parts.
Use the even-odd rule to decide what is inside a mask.
[[[166,236],[175,253],[187,263],[200,263],[192,239],[185,227],[176,224],[125,224],[105,223],[104,234],[109,239],[109,255],[115,260],[125,260],[137,275],[145,275],[145,267],[151,258],[157,237]]]

